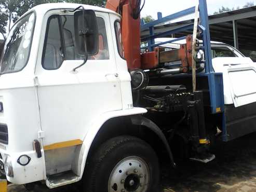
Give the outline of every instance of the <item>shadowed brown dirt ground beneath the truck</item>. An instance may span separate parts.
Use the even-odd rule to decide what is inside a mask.
[[[217,158],[202,164],[186,161],[178,169],[168,164],[161,171],[161,188],[164,192],[256,191],[256,134],[244,136],[229,143],[220,143]],[[8,192],[25,192],[23,186],[9,185]],[[77,185],[58,189],[36,186],[36,192],[79,192]]]

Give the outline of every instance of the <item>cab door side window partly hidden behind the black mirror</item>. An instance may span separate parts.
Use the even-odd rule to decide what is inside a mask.
[[[99,51],[88,60],[109,59],[106,26],[103,18],[97,17],[99,30]],[[78,54],[75,45],[75,28],[73,15],[53,15],[48,19],[42,65],[46,70],[56,70],[64,60],[84,60]]]

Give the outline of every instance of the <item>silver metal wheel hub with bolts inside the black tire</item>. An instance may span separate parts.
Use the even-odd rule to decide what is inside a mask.
[[[140,157],[119,161],[109,178],[109,192],[145,192],[149,184],[149,167]]]

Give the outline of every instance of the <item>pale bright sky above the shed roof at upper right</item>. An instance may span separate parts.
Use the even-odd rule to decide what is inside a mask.
[[[195,6],[198,0],[145,0],[145,6],[141,12],[141,16],[151,15],[157,19],[157,12],[162,12],[163,17],[172,13],[181,11],[186,8]],[[143,1],[142,1],[143,2]],[[256,0],[207,0],[208,14],[212,15],[214,11],[218,11],[221,6],[240,8],[247,2],[256,4]]]

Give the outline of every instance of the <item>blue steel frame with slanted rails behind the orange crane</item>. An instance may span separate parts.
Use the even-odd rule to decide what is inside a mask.
[[[174,33],[178,33],[184,30],[192,30],[194,24],[188,24],[182,26],[180,28],[166,31],[163,33],[154,33],[154,26],[171,21],[174,19],[178,19],[183,16],[190,15],[195,12],[195,7],[191,7],[185,9],[183,11],[179,11],[167,17],[162,17],[161,13],[158,12],[157,16],[158,19],[152,21],[150,23],[144,24],[143,21],[141,22],[141,31],[149,29],[150,35],[147,37],[143,37],[141,39],[142,42],[147,42],[148,48],[150,51],[159,45],[163,45],[166,43],[173,43],[181,39],[185,39],[186,37],[180,37],[174,40],[169,40],[168,42],[158,43],[155,44],[155,38],[159,37],[166,37],[167,35],[171,35]],[[198,28],[200,29],[201,36],[203,38],[203,47],[202,50],[205,52],[205,73],[198,73],[197,76],[207,76],[208,77],[208,84],[209,84],[209,93],[210,93],[210,102],[211,102],[211,113],[221,113],[222,112],[222,133],[223,133],[223,140],[226,140],[226,125],[225,125],[225,115],[224,115],[224,92],[223,92],[223,77],[222,73],[215,73],[212,67],[212,58],[211,58],[211,43],[210,43],[210,30],[209,30],[209,21],[208,21],[208,11],[207,11],[207,3],[206,0],[199,0],[199,13],[200,13],[200,25]]]

